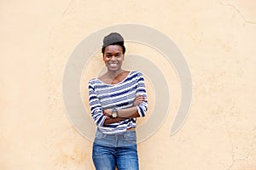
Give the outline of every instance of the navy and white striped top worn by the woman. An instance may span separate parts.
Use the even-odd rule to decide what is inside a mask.
[[[136,118],[125,119],[104,125],[107,116],[103,110],[108,108],[125,109],[133,105],[137,95],[143,95],[145,100],[137,105],[137,111],[141,117],[146,115],[148,100],[143,74],[140,71],[131,71],[122,82],[107,84],[94,78],[89,82],[90,115],[96,122],[96,126],[102,133],[124,133],[127,128],[136,127]]]

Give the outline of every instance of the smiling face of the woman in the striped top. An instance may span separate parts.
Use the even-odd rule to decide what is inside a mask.
[[[105,48],[103,60],[108,71],[119,71],[124,60],[123,48],[119,45],[108,45]]]

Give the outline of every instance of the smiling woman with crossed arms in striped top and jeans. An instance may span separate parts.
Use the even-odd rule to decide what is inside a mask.
[[[113,32],[103,39],[108,71],[89,82],[90,112],[96,122],[92,158],[97,170],[137,170],[136,119],[148,109],[143,74],[124,71],[124,39]]]

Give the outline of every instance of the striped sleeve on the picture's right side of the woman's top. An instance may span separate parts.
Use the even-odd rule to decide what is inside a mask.
[[[138,72],[137,77],[137,95],[143,95],[145,100],[140,105],[137,105],[137,111],[141,117],[146,116],[146,111],[148,111],[148,99],[146,94],[145,82],[144,77],[141,72]]]

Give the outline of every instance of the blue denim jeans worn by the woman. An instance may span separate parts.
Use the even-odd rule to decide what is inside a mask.
[[[138,170],[136,131],[105,134],[97,130],[92,159],[96,170]]]

